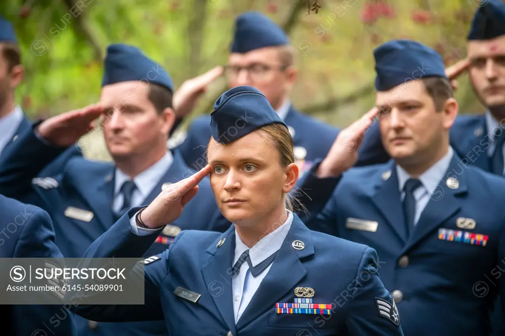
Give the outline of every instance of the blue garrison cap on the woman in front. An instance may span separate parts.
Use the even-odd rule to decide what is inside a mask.
[[[223,93],[211,113],[212,137],[226,144],[272,123],[286,124],[267,97],[252,86],[237,86]]]

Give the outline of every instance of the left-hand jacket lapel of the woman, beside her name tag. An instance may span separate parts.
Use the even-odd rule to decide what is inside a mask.
[[[222,239],[225,239],[220,247],[217,247]],[[225,321],[232,334],[235,331],[235,315],[233,311],[233,294],[231,268],[235,253],[235,226],[231,226],[209,248],[211,254],[209,261],[201,268],[207,289],[216,304],[221,317]],[[222,289],[222,293],[216,293],[216,289]]]

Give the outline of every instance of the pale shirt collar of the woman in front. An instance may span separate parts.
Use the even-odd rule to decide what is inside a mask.
[[[252,266],[256,267],[263,260],[270,257],[276,251],[281,248],[284,239],[286,239],[287,233],[291,228],[293,222],[293,213],[287,211],[288,216],[286,221],[279,228],[269,233],[263,237],[255,246],[251,247],[249,250],[249,256],[251,259]],[[235,256],[233,258],[233,265],[238,261],[242,253],[249,249],[235,234]]]

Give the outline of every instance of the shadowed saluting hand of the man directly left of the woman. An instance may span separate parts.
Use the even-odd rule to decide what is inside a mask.
[[[103,111],[103,107],[97,104],[75,109],[43,121],[37,132],[53,145],[68,147],[93,129],[93,121]]]

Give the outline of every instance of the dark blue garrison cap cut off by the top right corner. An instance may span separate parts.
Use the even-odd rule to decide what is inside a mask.
[[[472,21],[468,40],[489,40],[505,35],[505,3],[501,0],[482,2]]]

